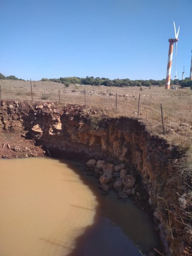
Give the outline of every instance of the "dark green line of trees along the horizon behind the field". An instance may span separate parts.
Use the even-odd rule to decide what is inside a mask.
[[[25,81],[24,79],[18,79],[15,76],[4,76],[2,73],[0,73],[0,79],[12,79],[12,80],[22,80]],[[52,81],[56,83],[62,83],[66,87],[68,87],[70,84],[84,84],[84,85],[94,85],[94,86],[99,86],[99,85],[104,85],[104,86],[115,86],[115,87],[128,87],[128,86],[146,86],[146,87],[151,87],[151,86],[164,86],[166,79],[162,80],[130,80],[130,79],[108,79],[105,77],[96,77],[94,78],[93,76],[86,76],[86,78],[80,78],[80,77],[60,77],[58,79],[53,78],[53,79],[47,79],[47,78],[42,78],[41,81]],[[170,81],[170,85],[180,85],[181,87],[191,87],[192,86],[192,81],[189,80],[189,77],[186,77],[184,80],[179,80],[175,79]]]

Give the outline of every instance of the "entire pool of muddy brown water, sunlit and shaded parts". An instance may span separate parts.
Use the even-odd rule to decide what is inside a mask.
[[[158,246],[130,199],[102,195],[81,163],[0,159],[0,256],[141,256]]]

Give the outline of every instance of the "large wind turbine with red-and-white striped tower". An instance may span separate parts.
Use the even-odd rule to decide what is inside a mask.
[[[175,28],[175,22],[173,22],[174,28]],[[180,28],[180,27],[179,27]],[[175,38],[170,38],[169,39],[169,55],[168,55],[168,64],[167,64],[167,75],[166,75],[166,84],[165,84],[165,89],[170,88],[170,80],[171,80],[171,71],[172,71],[172,58],[173,58],[173,44],[175,43],[175,67],[176,67],[176,59],[177,59],[177,41],[179,35],[179,29],[176,33],[175,29]],[[177,73],[176,73],[177,77]]]

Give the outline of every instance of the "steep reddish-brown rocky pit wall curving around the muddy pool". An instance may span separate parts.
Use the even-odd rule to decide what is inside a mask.
[[[109,119],[105,113],[96,116],[96,111],[87,113],[83,106],[59,108],[42,103],[24,109],[17,102],[3,104],[0,128],[14,130],[22,125],[38,145],[48,148],[53,155],[134,165],[150,197],[166,255],[185,255],[186,247],[190,252],[192,234],[180,215],[191,207],[191,201],[186,199],[180,183],[172,179],[177,172],[175,163],[180,158],[175,147],[150,136],[137,120]]]

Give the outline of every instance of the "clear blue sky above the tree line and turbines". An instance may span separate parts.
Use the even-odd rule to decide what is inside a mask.
[[[173,21],[181,79],[191,64],[192,0],[0,0],[0,73],[163,79]]]

